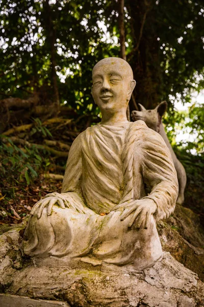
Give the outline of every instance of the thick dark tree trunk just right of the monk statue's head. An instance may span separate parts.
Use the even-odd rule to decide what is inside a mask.
[[[134,97],[145,108],[155,108],[162,99],[160,48],[155,1],[127,0],[134,49],[128,56],[137,85]],[[131,111],[135,109],[131,104]]]

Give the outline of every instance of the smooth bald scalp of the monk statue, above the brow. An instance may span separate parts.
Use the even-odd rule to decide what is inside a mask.
[[[97,62],[93,68],[92,77],[94,76],[96,69],[106,70],[107,67],[109,70],[112,68],[113,71],[117,71],[123,75],[124,78],[127,78],[130,81],[133,80],[133,71],[129,63],[117,57],[109,57]]]

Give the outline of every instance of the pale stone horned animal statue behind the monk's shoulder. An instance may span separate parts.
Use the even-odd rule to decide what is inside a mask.
[[[173,163],[177,172],[177,178],[179,181],[179,196],[177,198],[176,203],[182,205],[184,203],[184,190],[186,187],[186,171],[181,162],[176,158],[176,155],[171,147],[171,144],[169,143],[169,140],[164,130],[164,126],[162,124],[162,116],[166,111],[167,102],[162,101],[156,108],[152,110],[146,110],[145,107],[140,103],[139,106],[141,111],[133,111],[131,113],[131,117],[133,121],[143,120],[146,123],[147,127],[157,131],[164,139],[167,147],[170,150],[171,157],[173,159]]]

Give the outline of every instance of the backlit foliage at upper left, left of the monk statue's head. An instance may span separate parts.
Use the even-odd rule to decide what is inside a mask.
[[[1,92],[16,97],[38,92],[52,100],[53,91],[48,90],[52,87],[49,43],[52,29],[48,28],[47,21],[50,15],[56,37],[61,102],[66,101],[67,106],[74,108],[77,104],[81,114],[87,107],[95,108],[91,97],[93,63],[104,56],[118,54],[118,48],[114,51],[111,43],[101,41],[104,32],[98,22],[102,7],[101,3],[92,1],[58,1],[50,4],[48,14],[42,0],[2,0],[0,35],[1,55],[5,60],[0,65]]]

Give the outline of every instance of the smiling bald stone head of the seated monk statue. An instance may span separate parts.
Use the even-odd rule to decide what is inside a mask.
[[[92,80],[91,93],[102,113],[126,110],[136,85],[129,63],[116,57],[100,60],[93,68]]]

